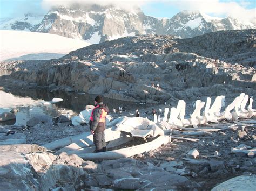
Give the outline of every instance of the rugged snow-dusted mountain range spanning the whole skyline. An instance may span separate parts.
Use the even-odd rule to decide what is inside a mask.
[[[32,20],[29,22],[29,20]],[[255,29],[255,23],[244,23],[231,17],[215,18],[199,11],[182,11],[171,19],[146,16],[140,10],[128,12],[113,6],[92,5],[86,8],[50,10],[42,20],[25,16],[1,22],[0,29],[30,30],[84,39],[96,44],[136,34],[170,34],[180,38],[194,37],[220,30]]]

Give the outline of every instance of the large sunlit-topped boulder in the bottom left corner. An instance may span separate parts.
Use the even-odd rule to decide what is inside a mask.
[[[0,158],[0,188],[4,190],[50,190],[56,184],[73,187],[84,175],[83,159],[54,155],[36,145],[0,146]]]

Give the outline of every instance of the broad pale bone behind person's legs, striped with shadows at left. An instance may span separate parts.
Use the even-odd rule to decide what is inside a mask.
[[[117,139],[121,136],[122,132],[114,131],[114,128],[105,129],[105,141],[109,142],[111,140]],[[86,146],[93,145],[93,135],[89,132],[89,135],[85,137],[80,137],[79,139],[73,139],[72,143],[64,148],[58,150],[58,152],[68,152],[70,150],[77,150]]]

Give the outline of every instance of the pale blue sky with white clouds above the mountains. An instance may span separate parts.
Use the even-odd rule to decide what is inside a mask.
[[[60,5],[70,2],[88,3],[91,0],[0,0],[0,18],[22,16],[26,12],[44,14],[52,5]],[[98,0],[91,1],[98,4],[113,3],[121,6],[138,5],[145,15],[157,18],[171,18],[181,10],[200,10],[208,15],[217,17],[237,16],[254,17],[256,16],[255,0]]]

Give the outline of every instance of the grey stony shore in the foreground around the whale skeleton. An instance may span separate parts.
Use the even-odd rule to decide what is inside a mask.
[[[164,105],[160,106],[164,108]],[[145,114],[150,109],[140,110],[142,116],[152,118],[152,115]],[[133,111],[129,110],[122,114],[111,112],[110,114],[113,115],[113,118],[117,118],[129,114],[129,112]],[[254,117],[250,120],[255,121],[256,118]],[[222,122],[220,126],[227,125],[227,123],[232,124],[232,122]],[[215,185],[235,176],[250,176],[256,172],[254,154],[246,155],[242,152],[231,152],[231,148],[241,146],[241,144],[252,148],[256,147],[255,124],[250,123],[247,126],[242,125],[235,129],[209,132],[204,136],[184,136],[187,138],[197,138],[196,142],[172,138],[171,143],[162,145],[157,150],[134,155],[132,158],[103,161],[84,161],[76,155],[59,154],[37,146],[63,137],[88,132],[89,127],[86,125],[74,127],[70,125],[70,122],[66,122],[55,125],[39,124],[24,130],[23,128],[24,126],[1,127],[2,135],[9,130],[16,132],[14,135],[2,136],[5,140],[6,138],[14,139],[15,136],[25,137],[25,143],[28,144],[0,146],[3,157],[2,162],[6,162],[13,155],[16,155],[15,158],[20,158],[17,155],[21,155],[23,156],[22,158],[28,159],[29,163],[27,166],[31,170],[36,169],[36,172],[32,171],[32,176],[28,176],[28,173],[26,173],[27,175],[23,176],[23,180],[28,182],[33,177],[33,179],[36,179],[41,184],[38,185],[34,182],[34,187],[36,186],[38,189],[46,187],[52,190],[58,190],[60,187],[66,190],[99,188],[150,189],[154,187],[157,190],[171,188],[178,190],[210,190]],[[145,141],[138,138],[131,143],[123,145],[123,147],[142,143],[145,143]],[[25,151],[24,148],[26,148]],[[32,148],[32,152],[27,150]],[[183,159],[188,157],[191,150],[198,151],[194,158],[197,164]],[[38,157],[39,159],[41,158],[39,161],[34,159]],[[48,161],[49,159],[47,158],[50,158],[52,162]],[[68,162],[68,166],[66,166],[66,162]],[[12,159],[11,163],[2,164],[2,166],[5,169],[9,169],[14,164],[15,160]],[[62,165],[62,167],[56,168],[56,165]],[[23,171],[23,167],[17,167],[17,165],[12,168],[15,171]],[[44,176],[42,171],[48,175]],[[5,180],[13,175],[9,173],[2,175],[2,177]],[[160,177],[165,178],[160,179]],[[48,182],[49,178],[56,180],[56,182]],[[120,178],[122,178],[122,181],[118,182],[117,180]],[[152,187],[148,185],[150,182]],[[1,184],[3,182],[0,182]],[[9,182],[10,187],[22,188],[25,185],[28,186],[28,183],[23,182],[23,184],[18,183],[17,185],[17,183],[12,181]]]

